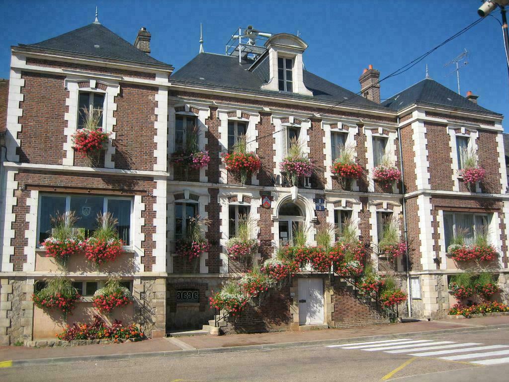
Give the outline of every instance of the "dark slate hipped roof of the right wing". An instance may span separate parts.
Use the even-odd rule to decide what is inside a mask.
[[[402,110],[414,103],[429,103],[478,113],[498,114],[469,101],[431,78],[425,78],[410,88],[388,98],[382,102],[382,105],[394,110]]]

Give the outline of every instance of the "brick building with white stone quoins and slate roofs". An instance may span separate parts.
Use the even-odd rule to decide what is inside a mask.
[[[150,40],[142,28],[131,45],[96,20],[12,47],[1,198],[2,343],[52,337],[61,325],[31,302],[37,281],[61,273],[40,246],[57,210],[75,211],[78,226],[91,230],[91,216],[111,212],[125,244],[122,257],[99,271],[70,260],[67,276],[84,298],[69,322],[94,314],[91,296],[114,272],[134,296],[134,304],[120,312],[124,319],[139,322],[151,336],[200,328],[214,318],[208,306],[212,291],[242,270],[225,251],[240,213],[257,222],[253,235],[261,259],[291,239],[295,222],[308,227],[313,245],[320,225],[339,227],[353,219],[374,266],[397,275],[404,290],[412,288],[411,316],[429,318],[447,314],[454,303],[448,277],[462,271],[446,254],[447,232],[456,219],[480,220],[500,253],[493,271],[507,291],[502,116],[479,106],[477,97],[464,98],[426,78],[380,103],[380,73],[371,66],[359,78],[362,96],[355,96],[306,71],[307,44],[285,33],[267,37],[263,45],[256,38],[256,45],[233,44],[231,54],[201,50],[175,73],[149,55]],[[73,149],[83,105],[102,111],[100,123],[110,133],[97,163]],[[199,170],[183,171],[171,160],[185,144],[185,126],[197,130],[197,145],[211,158]],[[262,161],[247,185],[221,161],[236,134],[245,134],[248,150]],[[299,187],[289,187],[279,170],[291,138],[315,165]],[[460,144],[474,150],[487,171],[476,189],[467,189],[459,176]],[[365,169],[351,190],[330,171],[338,148],[346,146]],[[403,182],[390,189],[373,180],[382,157],[403,169]],[[262,205],[263,198],[270,203]],[[175,244],[196,215],[210,221],[210,248],[189,264]],[[400,218],[409,242],[408,258],[395,263],[375,250],[380,221],[391,216]],[[302,298],[308,292],[317,295],[314,312]],[[408,306],[400,307],[400,315],[408,315]],[[224,331],[384,320],[344,280],[301,272],[263,306],[250,308],[238,328]]]

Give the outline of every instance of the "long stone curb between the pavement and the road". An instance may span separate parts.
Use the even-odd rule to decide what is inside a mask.
[[[31,360],[13,360],[12,366],[34,366],[34,365],[54,365],[67,362],[87,362],[87,361],[107,361],[107,360],[129,360],[149,357],[168,357],[168,356],[190,356],[199,354],[212,354],[212,353],[227,353],[236,351],[252,351],[252,350],[273,350],[284,349],[292,347],[310,347],[310,346],[323,346],[334,344],[348,344],[358,341],[377,341],[384,339],[398,339],[408,336],[432,336],[436,334],[447,333],[462,333],[462,332],[478,332],[484,330],[493,330],[500,328],[509,328],[509,323],[499,325],[487,326],[473,326],[471,328],[454,328],[454,329],[441,329],[434,331],[424,332],[408,332],[408,333],[394,333],[382,334],[377,336],[361,336],[351,338],[335,338],[327,340],[313,340],[313,341],[300,341],[300,342],[281,342],[270,343],[265,345],[245,345],[245,346],[228,346],[228,347],[210,347],[195,350],[171,350],[171,351],[153,351],[145,353],[127,353],[127,354],[103,354],[98,356],[76,356],[76,357],[57,357],[57,358],[39,358]]]

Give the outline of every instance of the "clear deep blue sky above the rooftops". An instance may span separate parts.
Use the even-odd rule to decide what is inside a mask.
[[[306,69],[349,90],[359,90],[362,69],[372,64],[381,77],[407,64],[478,18],[478,0],[314,1],[0,1],[0,77],[9,77],[10,46],[34,43],[99,20],[133,42],[138,29],[152,33],[152,56],[176,70],[198,52],[200,22],[207,52],[223,53],[239,26],[270,33],[300,33],[309,45]],[[500,12],[494,13],[500,19]],[[457,91],[456,75],[444,64],[463,49],[469,64],[460,71],[461,93],[509,116],[509,86],[500,24],[493,18],[446,44],[424,62],[381,84],[382,98],[430,76]],[[509,123],[504,121],[506,131]]]

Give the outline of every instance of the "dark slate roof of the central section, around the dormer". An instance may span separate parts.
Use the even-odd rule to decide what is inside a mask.
[[[268,65],[268,60],[265,61],[267,62],[261,65]],[[239,65],[238,57],[200,53],[178,71],[174,72],[170,80],[274,94],[273,91],[260,89],[267,81],[267,78],[265,78],[267,71],[263,68],[262,70],[257,68],[254,71],[248,71],[247,69],[252,64],[252,61],[244,61]],[[314,98],[332,102],[341,101],[350,106],[387,111],[387,107],[364,97],[356,96],[354,92],[337,86],[306,70],[303,71],[303,81],[306,88],[313,92]],[[278,93],[278,95],[291,98],[310,98],[292,93]]]

